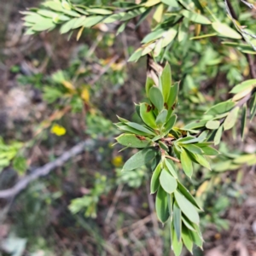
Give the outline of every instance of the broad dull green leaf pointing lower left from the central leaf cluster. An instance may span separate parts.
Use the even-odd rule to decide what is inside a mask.
[[[154,159],[155,155],[156,151],[154,148],[143,148],[143,150],[132,155],[131,158],[125,162],[123,171],[131,171],[141,166],[145,166],[150,160]]]

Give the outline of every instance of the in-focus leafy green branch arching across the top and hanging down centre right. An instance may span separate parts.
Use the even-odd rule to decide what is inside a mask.
[[[241,1],[248,7],[253,6]],[[244,137],[247,115],[253,119],[256,113],[256,77],[253,70],[253,37],[232,15],[229,1],[222,2],[230,20],[220,20],[213,14],[212,3],[201,4],[198,0],[148,0],[141,3],[117,2],[113,6],[84,6],[67,1],[45,1],[38,9],[29,9],[23,20],[27,34],[50,31],[60,26],[61,33],[77,32],[79,39],[84,28],[118,24],[117,33],[123,32],[131,20],[136,27],[154,11],[152,32],[146,35],[141,47],[129,61],[148,56],[148,78],[145,85],[147,100],[136,104],[137,123],[119,118],[117,127],[122,131],[117,142],[125,148],[139,151],[126,161],[123,171],[131,172],[141,166],[150,166],[151,193],[156,193],[155,209],[160,222],[169,222],[172,249],[180,255],[183,244],[192,253],[193,245],[202,247],[197,203],[181,181],[181,176],[191,178],[195,165],[211,170],[210,163],[218,151],[224,131],[236,125],[241,113],[241,138]],[[225,6],[224,6],[225,4]],[[221,3],[216,3],[218,9]],[[223,11],[223,10],[222,10]],[[136,18],[136,19],[135,19]],[[192,26],[191,26],[192,24]],[[232,28],[231,26],[235,26]],[[193,37],[189,38],[191,32]],[[166,53],[173,44],[189,44],[191,40],[217,38],[224,47],[233,47],[247,55],[251,77],[237,84],[230,93],[233,97],[207,109],[200,119],[189,125],[177,125],[179,82],[172,81],[169,64],[162,68],[158,63],[166,60]],[[225,41],[226,38],[229,41]],[[201,41],[200,41],[201,42]],[[249,108],[249,110],[247,110]],[[183,172],[178,172],[181,167]]]

